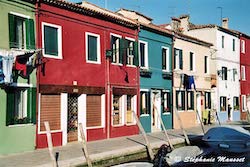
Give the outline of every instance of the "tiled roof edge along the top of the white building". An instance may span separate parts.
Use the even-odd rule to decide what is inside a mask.
[[[229,33],[229,34],[234,35],[234,36],[240,35],[238,31],[223,28],[223,27],[215,25],[215,24],[203,24],[203,25],[196,25],[196,24],[192,24],[192,23],[189,24],[189,30],[204,29],[204,28],[216,28],[220,31]]]

